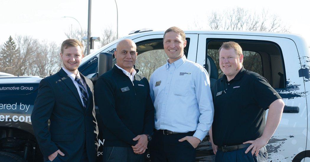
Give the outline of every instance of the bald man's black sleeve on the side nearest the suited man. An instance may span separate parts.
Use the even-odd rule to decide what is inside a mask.
[[[104,126],[119,139],[131,146],[135,146],[137,142],[132,139],[136,135],[125,126],[116,113],[113,85],[108,80],[99,78],[95,85],[94,96],[95,105],[98,106]]]

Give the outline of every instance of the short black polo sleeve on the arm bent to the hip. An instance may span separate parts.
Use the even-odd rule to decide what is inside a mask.
[[[267,110],[268,106],[275,100],[281,99],[280,95],[274,90],[268,81],[262,76],[255,77],[253,82],[254,99],[259,106]]]

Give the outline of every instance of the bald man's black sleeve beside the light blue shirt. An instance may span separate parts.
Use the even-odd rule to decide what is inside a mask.
[[[150,86],[148,80],[145,78],[145,84],[148,88],[148,96],[146,98],[146,109],[144,113],[144,126],[143,134],[153,134],[154,125],[155,125],[155,114],[154,114],[154,105],[150,95]]]

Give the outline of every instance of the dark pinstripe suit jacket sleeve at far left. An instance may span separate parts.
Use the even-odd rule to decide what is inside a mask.
[[[55,104],[54,93],[46,79],[42,79],[34,101],[31,113],[31,123],[34,135],[38,141],[44,156],[49,156],[58,150],[56,144],[51,141],[51,133],[48,130],[48,120],[51,117]]]

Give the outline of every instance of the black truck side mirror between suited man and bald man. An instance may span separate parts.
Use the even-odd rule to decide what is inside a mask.
[[[94,74],[87,75],[88,79],[91,79],[95,85],[98,77],[108,70],[112,69],[113,54],[108,52],[101,52],[98,55],[98,72]]]

